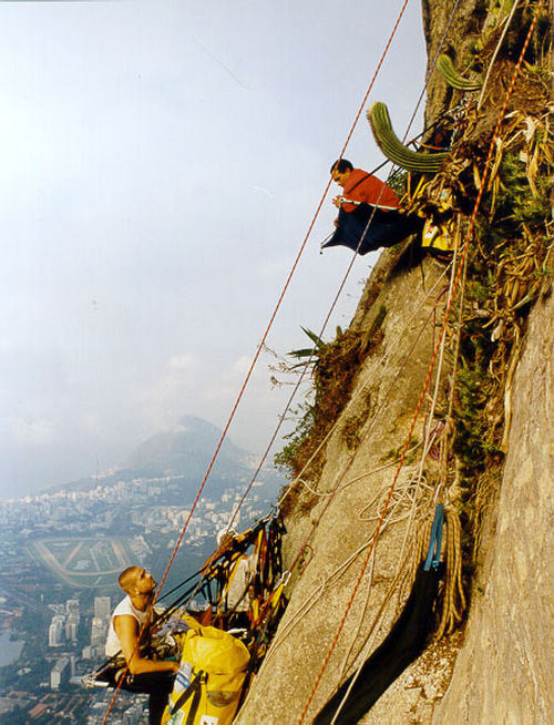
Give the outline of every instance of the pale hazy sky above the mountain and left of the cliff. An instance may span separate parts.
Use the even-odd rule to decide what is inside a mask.
[[[104,470],[184,413],[224,426],[401,6],[0,3],[0,498]],[[399,135],[423,75],[412,0],[370,96]],[[365,115],[346,156],[382,161]],[[350,262],[319,254],[330,197],[280,354],[320,329]],[[249,450],[288,395],[269,362],[229,433]]]

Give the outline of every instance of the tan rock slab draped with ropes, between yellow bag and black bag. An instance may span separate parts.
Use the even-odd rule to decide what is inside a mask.
[[[381,255],[352,323],[353,329],[370,329],[376,315],[382,315],[384,309],[382,341],[366,359],[350,400],[326,441],[326,463],[316,489],[306,481],[301,497],[306,501],[315,499],[315,504],[308,515],[287,520],[286,565],[291,566],[308,542],[306,563],[294,582],[291,600],[270,652],[236,719],[242,725],[288,725],[299,721],[358,582],[358,593],[337,646],[305,715],[304,722],[311,722],[345,674],[352,672],[384,639],[398,613],[398,578],[406,573],[407,547],[413,535],[413,501],[420,511],[434,509],[424,478],[412,484],[416,466],[407,466],[396,483],[377,547],[363,570],[380,507],[393,482],[397,450],[409,430],[437,341],[435,324],[448,296],[444,267],[432,258],[412,268],[397,266],[382,285],[393,262],[391,252]],[[370,304],[376,284],[382,285],[381,292]],[[428,412],[425,405],[418,418],[416,437],[420,440]],[[347,431],[352,420],[365,423],[358,429],[356,446],[349,447]],[[404,596],[400,599],[402,603]],[[450,674],[451,657],[443,651],[438,649],[431,658],[444,660],[442,670]],[[425,670],[430,666],[428,663]],[[421,722],[430,722],[432,704],[448,682],[444,672],[440,681],[428,686],[428,702],[423,706],[429,713]],[[414,695],[419,698],[420,693],[413,684],[409,687],[408,706],[412,707]]]

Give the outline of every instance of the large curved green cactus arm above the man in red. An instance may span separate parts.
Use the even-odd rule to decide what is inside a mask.
[[[448,157],[448,152],[424,153],[411,151],[398,139],[390,123],[384,103],[373,103],[368,111],[368,121],[376,143],[387,159],[407,171],[435,174]]]

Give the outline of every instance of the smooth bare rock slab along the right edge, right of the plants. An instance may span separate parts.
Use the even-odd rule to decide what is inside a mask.
[[[546,725],[554,717],[554,297],[531,315],[495,532],[452,683],[433,723]]]

